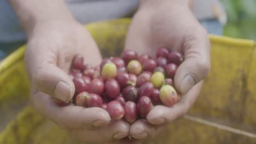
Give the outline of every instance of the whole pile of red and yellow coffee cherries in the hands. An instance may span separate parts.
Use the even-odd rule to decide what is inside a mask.
[[[183,58],[178,52],[159,48],[156,59],[126,50],[121,57],[105,58],[100,65],[84,64],[75,55],[70,77],[75,86],[72,102],[101,107],[112,119],[132,123],[145,118],[153,106],[172,106],[181,95],[174,88],[174,75]]]

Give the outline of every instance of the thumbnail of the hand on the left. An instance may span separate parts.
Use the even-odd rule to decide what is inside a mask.
[[[71,100],[70,86],[63,81],[59,81],[54,89],[55,98],[68,103]]]

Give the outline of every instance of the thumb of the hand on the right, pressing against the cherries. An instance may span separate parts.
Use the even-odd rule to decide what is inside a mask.
[[[210,41],[204,31],[188,35],[184,43],[184,62],[174,76],[176,88],[187,93],[196,83],[204,79],[210,71]],[[187,40],[186,40],[187,39]]]

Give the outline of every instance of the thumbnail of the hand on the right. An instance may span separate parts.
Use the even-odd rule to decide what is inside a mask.
[[[187,93],[195,84],[195,78],[190,74],[186,75],[180,84],[181,92]]]

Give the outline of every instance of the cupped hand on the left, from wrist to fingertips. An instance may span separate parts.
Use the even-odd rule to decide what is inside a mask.
[[[73,97],[74,83],[67,73],[77,53],[82,53],[85,63],[101,62],[94,39],[78,22],[48,20],[33,27],[28,35],[25,62],[34,107],[82,141],[111,142],[126,137],[130,124],[110,121],[108,112],[99,107],[60,107],[54,103],[53,97],[66,102]]]

